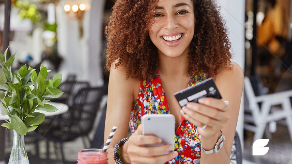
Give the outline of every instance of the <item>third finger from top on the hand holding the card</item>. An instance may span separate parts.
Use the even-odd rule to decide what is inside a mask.
[[[211,117],[205,116],[203,114],[197,113],[195,111],[192,111],[191,109],[189,109],[185,106],[183,107],[183,111],[185,114],[190,116],[190,118],[192,118],[192,120],[200,120],[200,122],[203,124],[207,124],[209,126],[215,127],[219,123],[218,120],[215,120],[214,118],[211,118]]]

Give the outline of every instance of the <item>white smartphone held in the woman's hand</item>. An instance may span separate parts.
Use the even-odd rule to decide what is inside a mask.
[[[142,117],[143,135],[154,135],[162,139],[162,143],[144,146],[174,146],[175,117],[172,114],[145,114]]]

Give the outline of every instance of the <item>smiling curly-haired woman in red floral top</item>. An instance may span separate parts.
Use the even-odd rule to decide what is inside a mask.
[[[117,126],[108,149],[109,163],[114,159],[117,163],[229,163],[243,71],[230,61],[230,42],[213,1],[117,0],[106,34],[110,75],[105,138]],[[173,93],[209,77],[214,78],[222,100],[202,98],[181,109]],[[230,102],[229,108],[224,100]],[[141,117],[149,113],[175,116],[175,148],[143,147],[161,142],[141,135]],[[132,135],[127,139],[129,122]],[[221,131],[223,147],[209,154]],[[167,153],[170,150],[175,151]],[[156,156],[163,153],[167,154]]]

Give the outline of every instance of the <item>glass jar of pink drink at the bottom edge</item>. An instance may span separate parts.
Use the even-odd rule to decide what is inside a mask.
[[[102,149],[83,149],[78,151],[77,164],[108,164],[107,152]]]

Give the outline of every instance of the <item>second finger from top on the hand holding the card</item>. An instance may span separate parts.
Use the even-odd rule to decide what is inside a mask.
[[[189,108],[197,113],[203,114],[205,116],[214,118],[216,120],[223,119],[225,117],[225,114],[226,114],[225,112],[218,110],[216,108],[209,107],[209,106],[199,104],[199,103],[194,103],[194,102],[188,103],[187,108]]]

